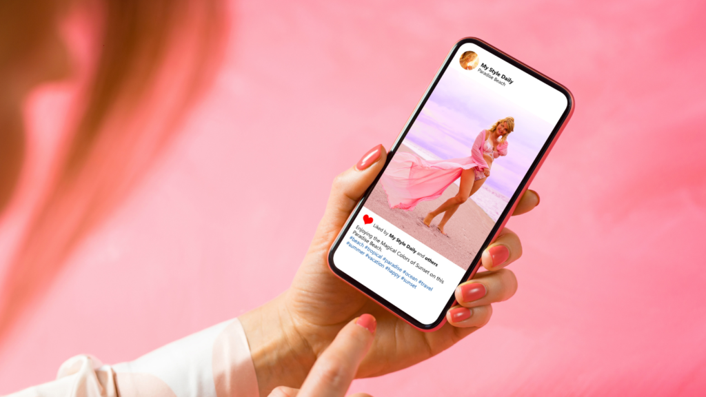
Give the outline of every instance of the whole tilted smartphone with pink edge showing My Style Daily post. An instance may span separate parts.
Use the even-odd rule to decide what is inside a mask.
[[[335,239],[333,273],[421,331],[443,326],[573,109],[551,78],[457,42]]]

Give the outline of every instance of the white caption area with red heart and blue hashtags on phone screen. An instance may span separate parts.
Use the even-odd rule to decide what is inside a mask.
[[[364,209],[334,254],[341,271],[423,324],[436,321],[465,271]]]

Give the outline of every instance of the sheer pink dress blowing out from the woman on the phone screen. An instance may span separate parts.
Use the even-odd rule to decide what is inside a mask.
[[[412,153],[397,152],[380,178],[380,183],[388,194],[390,208],[412,211],[420,201],[438,198],[461,176],[463,170],[474,168],[475,179],[484,178],[483,171],[489,166],[483,155],[498,158],[508,153],[507,141],[499,144],[497,150],[493,151],[491,143],[486,141],[486,133],[487,131],[483,130],[478,134],[473,142],[471,155],[465,158],[426,161]]]

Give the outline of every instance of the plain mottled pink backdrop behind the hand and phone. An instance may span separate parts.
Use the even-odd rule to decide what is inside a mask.
[[[706,3],[347,4],[234,6],[215,88],[16,326],[0,393],[53,379],[81,352],[131,360],[285,290],[331,179],[390,146],[469,35],[577,102],[532,185],[541,205],[508,224],[525,249],[512,266],[520,289],[455,348],[352,391],[704,393]],[[51,120],[59,100],[38,98],[34,114]],[[47,119],[30,120],[35,158],[55,141],[38,130]]]

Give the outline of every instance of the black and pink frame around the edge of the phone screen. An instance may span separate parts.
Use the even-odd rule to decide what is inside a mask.
[[[414,319],[414,317],[407,314],[407,312],[396,307],[394,304],[390,303],[388,300],[385,300],[383,297],[381,297],[380,295],[376,294],[375,292],[373,292],[372,290],[367,288],[366,285],[360,283],[358,280],[352,278],[350,275],[347,275],[346,273],[341,271],[339,268],[337,268],[337,266],[335,266],[335,263],[333,261],[333,255],[335,254],[336,249],[338,249],[339,245],[341,244],[342,238],[345,235],[347,235],[348,230],[352,226],[352,220],[354,220],[355,218],[358,217],[365,202],[368,200],[373,188],[376,186],[376,184],[378,184],[378,181],[379,181],[381,175],[383,174],[383,172],[385,172],[385,169],[387,169],[387,167],[390,163],[390,160],[393,158],[395,153],[397,153],[397,149],[400,147],[400,144],[405,139],[405,136],[407,136],[407,133],[409,133],[409,129],[411,128],[412,124],[414,124],[414,121],[417,120],[417,117],[419,117],[419,113],[421,112],[421,109],[423,109],[424,105],[426,105],[426,101],[429,100],[429,97],[431,96],[431,93],[433,92],[434,88],[436,88],[436,85],[438,84],[439,80],[441,79],[441,76],[443,76],[444,72],[446,71],[446,69],[450,65],[451,61],[454,60],[453,54],[455,54],[457,52],[457,49],[460,46],[465,45],[467,43],[472,43],[474,45],[478,45],[479,47],[485,49],[486,51],[491,52],[496,57],[503,59],[503,61],[508,62],[509,64],[517,67],[518,69],[525,71],[525,73],[530,74],[530,76],[537,78],[539,81],[542,81],[543,83],[551,86],[552,88],[555,88],[556,90],[558,90],[559,92],[561,92],[563,95],[566,96],[567,106],[566,106],[566,109],[564,110],[563,114],[561,115],[561,118],[554,126],[554,129],[551,131],[551,134],[549,135],[549,138],[546,140],[546,143],[544,143],[542,150],[539,150],[539,155],[537,155],[537,158],[534,160],[534,162],[532,162],[532,166],[530,167],[530,170],[527,171],[527,173],[525,174],[525,177],[522,178],[522,182],[520,182],[520,185],[517,186],[515,193],[513,194],[512,197],[510,197],[510,201],[508,202],[508,206],[505,207],[505,210],[501,214],[500,218],[498,218],[498,222],[496,222],[495,226],[493,226],[493,229],[489,233],[485,242],[483,243],[483,245],[481,245],[481,249],[478,251],[478,254],[474,257],[471,265],[467,269],[464,276],[461,278],[459,285],[461,283],[464,283],[470,277],[472,277],[472,275],[474,275],[474,273],[478,270],[478,268],[480,266],[481,254],[486,249],[486,247],[488,247],[488,245],[493,241],[493,239],[496,237],[498,232],[500,230],[502,230],[502,228],[505,226],[505,223],[507,222],[507,220],[509,218],[510,211],[513,211],[513,209],[517,205],[517,199],[527,189],[527,186],[532,181],[534,174],[536,174],[537,170],[539,170],[539,167],[542,165],[544,158],[546,158],[546,155],[549,153],[549,150],[551,150],[551,146],[554,145],[556,138],[558,138],[558,135],[561,134],[563,127],[566,126],[568,119],[570,119],[570,116],[573,113],[573,108],[574,108],[573,95],[571,95],[570,91],[567,88],[565,88],[563,85],[557,83],[556,81],[552,80],[551,78],[549,78],[547,76],[544,76],[542,73],[535,71],[534,69],[530,68],[530,66],[522,64],[522,62],[517,61],[517,59],[510,57],[508,54],[501,52],[499,49],[496,49],[495,47],[478,39],[477,37],[466,37],[466,38],[460,40],[459,42],[457,42],[453,46],[453,48],[450,50],[450,52],[446,56],[446,59],[443,61],[441,68],[436,72],[436,76],[434,76],[433,80],[431,81],[431,84],[429,85],[428,88],[426,88],[426,92],[421,97],[421,100],[419,101],[419,103],[417,103],[417,107],[414,109],[414,112],[412,112],[412,115],[407,120],[407,123],[405,124],[404,128],[402,129],[402,133],[399,136],[397,136],[397,140],[393,144],[392,148],[390,148],[390,151],[388,152],[388,158],[385,161],[385,165],[383,166],[383,169],[380,171],[380,173],[376,177],[375,181],[371,184],[371,186],[366,191],[363,198],[361,198],[361,200],[357,204],[356,208],[349,216],[348,220],[346,221],[346,224],[344,225],[341,232],[336,237],[336,239],[333,242],[333,244],[329,250],[329,253],[328,253],[328,265],[331,268],[331,271],[333,271],[333,273],[335,275],[337,275],[342,280],[345,280],[347,283],[352,285],[357,290],[363,292],[365,295],[368,295],[373,300],[376,300],[376,302],[378,302],[383,307],[385,307],[385,309],[388,309],[390,312],[393,312],[393,314],[399,316],[401,319],[405,320],[408,324],[414,326],[415,328],[419,328],[419,330],[421,330],[421,331],[433,331],[434,329],[443,325],[443,323],[445,321],[446,312],[448,311],[448,309],[450,309],[450,307],[455,302],[455,297],[453,294],[449,297],[448,302],[445,304],[444,309],[441,311],[441,313],[439,314],[436,321],[433,321],[433,323],[431,323],[431,324],[422,324],[421,322],[417,321],[417,319]]]

